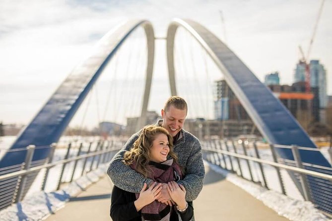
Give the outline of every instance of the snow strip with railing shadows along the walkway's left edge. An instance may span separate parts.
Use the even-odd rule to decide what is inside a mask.
[[[26,197],[22,202],[13,204],[0,211],[0,221],[39,221],[46,219],[57,210],[63,208],[70,197],[77,195],[91,183],[105,175],[108,164],[100,165],[98,169],[88,172],[62,190],[46,193],[36,192]]]

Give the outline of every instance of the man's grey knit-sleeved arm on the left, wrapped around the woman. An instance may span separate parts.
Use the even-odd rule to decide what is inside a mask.
[[[107,169],[107,174],[112,179],[114,185],[120,189],[132,193],[139,193],[143,188],[144,183],[149,185],[153,181],[123,163],[125,152],[132,148],[133,143],[139,136],[139,133],[140,132],[133,134],[133,136],[125,144],[125,147],[113,157],[110,166],[108,166]]]

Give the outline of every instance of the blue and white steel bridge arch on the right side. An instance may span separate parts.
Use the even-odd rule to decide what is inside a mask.
[[[281,145],[298,145],[302,147],[317,148],[310,140],[307,133],[292,116],[292,114],[273,96],[271,91],[261,83],[253,72],[215,35],[199,23],[189,19],[174,19],[167,31],[167,60],[171,94],[177,95],[175,68],[174,68],[174,40],[178,27],[185,28],[199,42],[207,54],[213,59],[217,67],[224,74],[227,84],[237,96],[251,119],[266,137],[269,143]],[[283,159],[294,160],[290,149],[276,148],[277,153]],[[330,167],[326,158],[318,151],[300,150],[303,162]],[[308,169],[315,170],[314,167]],[[329,169],[316,169],[327,174]],[[293,172],[289,172],[299,191],[298,178]],[[308,176],[308,183],[313,203],[329,213],[332,212],[332,203],[320,201],[320,185],[324,183],[327,188],[332,188],[332,182],[320,178]]]

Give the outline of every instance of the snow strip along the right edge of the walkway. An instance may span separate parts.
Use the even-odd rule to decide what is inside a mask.
[[[208,164],[212,170],[224,175],[228,181],[241,187],[249,194],[262,201],[267,207],[277,212],[280,216],[284,216],[291,221],[332,221],[317,210],[311,202],[292,199],[275,190],[267,190],[219,166],[206,161],[204,161],[204,163]]]

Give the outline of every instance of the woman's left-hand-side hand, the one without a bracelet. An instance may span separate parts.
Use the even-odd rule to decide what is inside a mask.
[[[162,189],[161,183],[156,185],[156,182],[153,182],[149,188],[147,188],[146,183],[144,183],[142,190],[139,193],[139,197],[134,201],[134,205],[137,211],[140,211],[144,206],[152,203],[155,199],[157,199]]]

